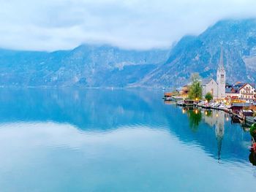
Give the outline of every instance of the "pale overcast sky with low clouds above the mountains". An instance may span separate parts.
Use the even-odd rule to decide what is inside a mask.
[[[256,0],[0,0],[0,47],[170,47],[223,18],[256,18]]]

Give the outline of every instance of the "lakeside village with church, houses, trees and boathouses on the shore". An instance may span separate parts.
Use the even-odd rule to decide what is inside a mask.
[[[201,80],[192,74],[191,82],[173,92],[165,92],[165,102],[174,101],[184,107],[202,107],[230,113],[231,118],[252,125],[256,122],[256,88],[249,82],[226,82],[223,50],[219,57],[217,80]]]

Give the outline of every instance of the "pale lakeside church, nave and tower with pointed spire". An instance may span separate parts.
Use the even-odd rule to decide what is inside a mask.
[[[215,81],[211,78],[202,82],[203,98],[206,96],[206,93],[210,92],[214,99],[225,99],[226,72],[223,63],[223,50],[221,50],[217,69],[217,80]]]

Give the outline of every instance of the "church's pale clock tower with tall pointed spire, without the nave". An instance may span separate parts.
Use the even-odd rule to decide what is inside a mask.
[[[225,94],[225,85],[226,85],[226,71],[223,65],[223,50],[221,48],[219,66],[217,69],[217,83],[218,83],[218,99],[224,99]]]

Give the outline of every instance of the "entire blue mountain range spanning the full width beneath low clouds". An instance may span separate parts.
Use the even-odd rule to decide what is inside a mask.
[[[171,50],[81,45],[53,53],[0,50],[0,86],[179,87],[193,72],[216,77],[220,47],[227,82],[256,80],[256,20],[221,20]]]

